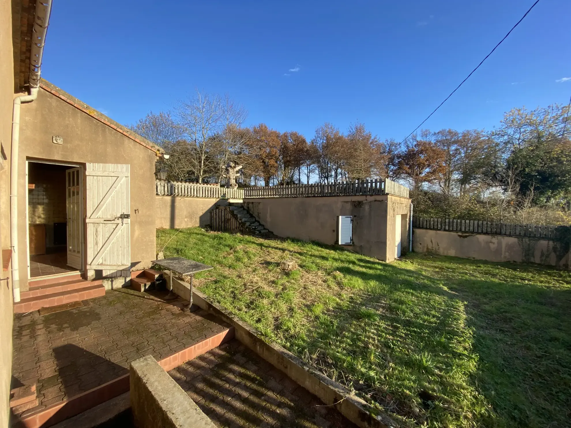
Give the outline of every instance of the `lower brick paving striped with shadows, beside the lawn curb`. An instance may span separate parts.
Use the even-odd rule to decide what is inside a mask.
[[[236,340],[168,373],[216,426],[356,428]]]

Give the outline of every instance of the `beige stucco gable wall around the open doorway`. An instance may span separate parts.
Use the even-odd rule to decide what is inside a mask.
[[[86,163],[130,164],[131,269],[149,267],[155,259],[156,152],[144,146],[145,142],[140,144],[130,138],[119,124],[45,80],[38,98],[22,104],[21,115],[18,159],[21,289],[27,289],[26,160],[63,161],[84,167]],[[61,136],[63,144],[54,144],[54,135]]]

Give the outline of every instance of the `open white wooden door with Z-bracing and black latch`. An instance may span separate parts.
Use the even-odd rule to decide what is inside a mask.
[[[86,165],[87,277],[130,277],[129,166]]]

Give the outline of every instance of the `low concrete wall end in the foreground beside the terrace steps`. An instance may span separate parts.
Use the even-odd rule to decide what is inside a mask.
[[[196,403],[150,355],[131,362],[131,410],[138,428],[214,428]]]

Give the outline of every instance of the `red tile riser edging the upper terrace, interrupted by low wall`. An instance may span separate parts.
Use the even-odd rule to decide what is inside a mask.
[[[168,372],[169,370],[178,367],[179,365],[192,360],[199,355],[202,355],[217,346],[222,345],[224,342],[234,338],[234,327],[224,330],[209,337],[202,342],[198,342],[189,346],[170,357],[163,358],[159,361],[160,366]],[[13,423],[13,427],[17,428],[47,428],[55,425],[56,423],[65,421],[82,413],[92,407],[98,406],[111,398],[117,397],[129,390],[129,375],[124,374],[110,382],[103,383],[94,389],[86,391],[83,394],[71,397],[66,401],[55,403],[46,409],[30,411],[28,414],[23,414],[22,417]]]

